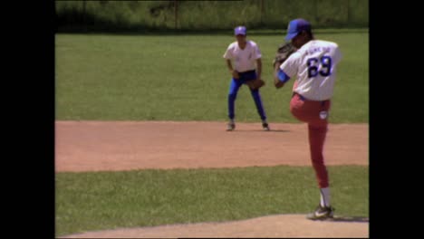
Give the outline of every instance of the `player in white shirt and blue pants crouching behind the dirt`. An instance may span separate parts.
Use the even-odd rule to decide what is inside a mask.
[[[255,100],[256,110],[262,119],[263,129],[269,130],[261,95],[259,94],[259,88],[265,84],[261,79],[261,52],[255,42],[246,41],[246,26],[237,26],[234,29],[234,34],[236,35],[236,42],[228,45],[223,56],[226,59],[228,71],[232,75],[228,93],[229,122],[226,130],[236,129],[234,106],[237,92],[243,84],[249,86],[250,93]],[[234,61],[234,68],[231,63],[232,60]]]

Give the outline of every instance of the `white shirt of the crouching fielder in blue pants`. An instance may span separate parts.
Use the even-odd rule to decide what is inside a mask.
[[[248,40],[243,50],[238,47],[237,42],[229,44],[223,57],[234,61],[233,67],[237,72],[247,72],[255,70],[256,59],[261,58],[262,54],[257,44]]]

